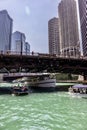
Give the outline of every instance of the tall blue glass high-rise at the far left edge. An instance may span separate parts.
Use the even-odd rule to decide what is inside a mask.
[[[11,49],[12,23],[8,12],[0,11],[0,51],[3,53]]]

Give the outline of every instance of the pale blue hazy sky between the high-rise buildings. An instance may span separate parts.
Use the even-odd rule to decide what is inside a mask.
[[[48,21],[58,17],[60,0],[0,0],[13,19],[13,32],[25,34],[31,51],[48,53]]]

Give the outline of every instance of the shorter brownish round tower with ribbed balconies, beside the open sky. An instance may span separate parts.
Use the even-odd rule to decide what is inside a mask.
[[[60,54],[59,47],[59,21],[52,18],[48,22],[49,54]]]

